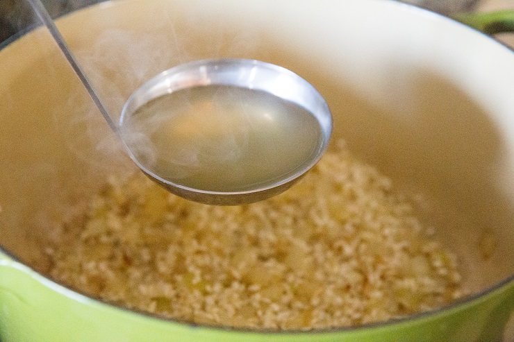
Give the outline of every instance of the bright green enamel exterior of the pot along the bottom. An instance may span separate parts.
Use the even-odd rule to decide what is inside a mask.
[[[61,287],[0,253],[0,341],[503,341],[514,282],[465,303],[386,325],[354,330],[257,333],[160,320]]]

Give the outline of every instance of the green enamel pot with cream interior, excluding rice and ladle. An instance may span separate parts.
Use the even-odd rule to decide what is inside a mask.
[[[259,332],[122,309],[38,273],[31,265],[52,220],[113,169],[133,168],[38,28],[0,51],[0,341],[514,341],[506,46],[385,0],[108,1],[58,27],[111,113],[144,80],[189,60],[258,59],[306,78],[333,112],[333,141],[344,138],[397,187],[431,198],[420,215],[444,228],[440,239],[463,259],[472,294],[386,323]]]

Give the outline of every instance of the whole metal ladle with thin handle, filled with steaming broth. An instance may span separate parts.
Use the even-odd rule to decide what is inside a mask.
[[[332,117],[322,95],[292,71],[257,60],[163,71],[133,92],[117,124],[41,1],[28,1],[133,162],[178,196],[213,205],[270,198],[328,146]]]

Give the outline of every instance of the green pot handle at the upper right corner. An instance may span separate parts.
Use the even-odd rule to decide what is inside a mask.
[[[459,13],[454,19],[488,35],[514,32],[514,10]]]

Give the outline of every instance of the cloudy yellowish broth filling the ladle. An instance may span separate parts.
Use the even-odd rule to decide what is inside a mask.
[[[138,161],[171,182],[247,191],[296,173],[322,144],[315,117],[267,92],[226,85],[182,89],[127,117]]]

